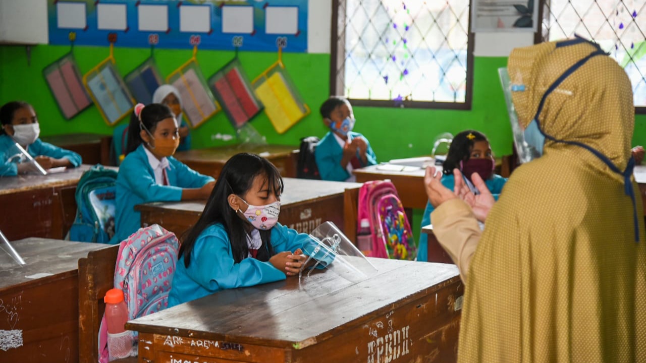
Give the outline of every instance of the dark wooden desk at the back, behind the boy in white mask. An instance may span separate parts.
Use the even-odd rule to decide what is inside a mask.
[[[61,134],[43,136],[41,140],[71,150],[83,159],[84,164],[110,165],[112,136],[101,134]]]

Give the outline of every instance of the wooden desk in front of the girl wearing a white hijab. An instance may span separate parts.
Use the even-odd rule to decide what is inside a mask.
[[[188,165],[194,171],[218,178],[227,162],[240,152],[258,154],[271,161],[284,178],[296,177],[298,147],[287,145],[251,145],[238,144],[231,146],[211,147],[209,149],[187,150],[175,153],[175,158]]]

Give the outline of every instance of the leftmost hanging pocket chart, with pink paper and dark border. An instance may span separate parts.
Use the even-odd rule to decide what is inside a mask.
[[[92,105],[71,52],[45,67],[43,76],[65,119],[73,118]]]

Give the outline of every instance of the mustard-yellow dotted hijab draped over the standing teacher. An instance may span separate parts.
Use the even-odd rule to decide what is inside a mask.
[[[459,362],[646,362],[646,245],[641,198],[625,178],[634,123],[627,75],[585,41],[542,43],[509,57],[512,99],[548,136],[490,212],[471,261]],[[565,142],[563,142],[565,141]],[[579,145],[576,145],[579,143]],[[634,180],[630,179],[635,191]]]

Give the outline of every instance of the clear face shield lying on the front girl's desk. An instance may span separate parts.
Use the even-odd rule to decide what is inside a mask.
[[[377,273],[377,268],[334,223],[322,223],[309,236],[312,242],[305,248],[309,257],[298,273],[299,283],[305,281],[304,273],[309,276],[319,266],[353,283],[366,280]],[[315,260],[315,263],[310,268],[311,260]]]

